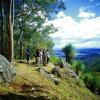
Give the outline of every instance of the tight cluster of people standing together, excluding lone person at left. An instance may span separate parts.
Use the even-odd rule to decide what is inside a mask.
[[[49,62],[50,55],[46,49],[37,49],[34,56],[37,64],[46,65]]]

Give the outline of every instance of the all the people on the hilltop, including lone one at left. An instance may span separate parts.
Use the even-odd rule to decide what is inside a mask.
[[[46,49],[36,49],[34,53],[36,64],[43,64],[46,65],[49,62],[50,54]],[[30,60],[30,48],[26,49],[26,59],[27,63],[29,64]]]

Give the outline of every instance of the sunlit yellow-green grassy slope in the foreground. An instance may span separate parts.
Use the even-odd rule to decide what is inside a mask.
[[[50,71],[53,65],[41,67]],[[55,85],[37,68],[33,64],[16,62],[17,75],[10,85],[0,85],[0,100],[100,100],[86,87],[77,86],[69,76]]]

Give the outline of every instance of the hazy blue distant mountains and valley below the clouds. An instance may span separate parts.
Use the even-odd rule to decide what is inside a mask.
[[[61,49],[55,49],[54,53],[58,57],[65,57]],[[85,63],[86,70],[100,72],[100,48],[76,49],[76,59]]]

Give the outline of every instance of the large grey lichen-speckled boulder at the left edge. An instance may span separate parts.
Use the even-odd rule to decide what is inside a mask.
[[[0,84],[10,83],[16,75],[14,66],[2,55],[0,55]]]

